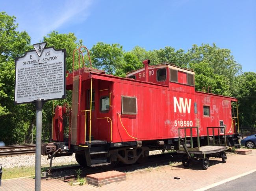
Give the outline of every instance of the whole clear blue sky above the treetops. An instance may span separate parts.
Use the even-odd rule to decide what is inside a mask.
[[[243,72],[256,72],[256,0],[1,0],[32,44],[51,31],[75,33],[88,48],[119,43],[130,51],[216,43]]]

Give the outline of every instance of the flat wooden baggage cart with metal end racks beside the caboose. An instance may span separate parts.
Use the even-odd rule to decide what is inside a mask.
[[[193,138],[192,138],[192,129],[197,128],[197,147],[193,147]],[[216,144],[215,142],[215,135],[213,131],[213,143],[210,143],[210,137],[208,133],[208,146],[201,146],[200,147],[200,142],[199,142],[199,135],[198,135],[198,127],[183,127],[179,128],[179,150],[177,153],[184,154],[183,159],[182,159],[182,164],[184,167],[188,167],[190,162],[197,162],[201,163],[202,169],[206,170],[209,167],[209,157],[217,157],[217,158],[222,158],[222,162],[226,163],[227,156],[225,151],[228,149],[226,146],[226,136],[219,135],[219,128],[221,127],[207,127],[207,128],[218,128],[218,138]],[[186,133],[185,133],[185,138],[180,138],[180,129],[184,129],[186,132],[186,129],[190,129],[191,136],[190,140],[187,140]],[[224,140],[223,140],[224,138]],[[223,140],[224,144],[221,144],[221,140]],[[218,146],[219,145],[219,146]]]

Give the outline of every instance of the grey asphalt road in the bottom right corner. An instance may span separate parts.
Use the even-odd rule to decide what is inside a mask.
[[[219,186],[208,189],[207,191],[228,191],[228,190],[244,190],[244,191],[256,191],[256,172],[251,173],[241,178],[237,178],[230,182],[226,182]]]

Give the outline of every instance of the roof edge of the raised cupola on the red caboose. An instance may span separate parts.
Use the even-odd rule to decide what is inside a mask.
[[[178,71],[182,71],[182,72],[185,72],[185,73],[189,73],[189,74],[193,74],[195,75],[195,72],[191,69],[188,69],[188,68],[182,68],[182,67],[179,67],[179,66],[176,66],[176,65],[173,65],[169,62],[163,62],[161,64],[158,64],[158,65],[148,65],[148,69],[154,69],[154,68],[165,68],[165,67],[168,67],[168,68],[171,68],[171,69],[175,69],[175,70],[178,70]],[[141,72],[141,71],[144,71],[145,67],[141,67],[139,69],[136,69],[136,70],[133,70],[133,71],[130,71],[126,74],[126,77],[128,76],[132,76],[138,72]]]

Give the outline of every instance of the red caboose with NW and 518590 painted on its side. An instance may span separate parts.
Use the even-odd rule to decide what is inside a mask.
[[[69,73],[69,137],[56,139],[63,131],[55,127],[62,120],[55,122],[52,143],[43,146],[42,154],[58,149],[65,155],[76,153],[79,164],[91,167],[143,162],[150,150],[178,149],[178,137],[189,133],[197,145],[197,131],[179,132],[182,127],[198,127],[202,146],[207,136],[218,135],[217,129],[207,132],[207,127],[221,127],[219,141],[236,144],[231,112],[235,98],[195,91],[195,73],[189,69],[149,63],[145,60],[145,67],[126,78],[86,67]]]

